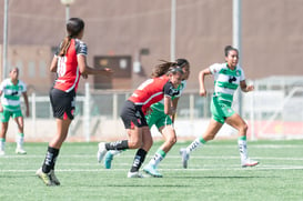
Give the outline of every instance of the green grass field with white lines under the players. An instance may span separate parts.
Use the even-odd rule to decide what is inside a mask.
[[[27,155],[7,143],[0,158],[0,200],[303,200],[303,140],[249,142],[261,163],[241,168],[235,140],[216,140],[193,152],[183,169],[176,143],[162,161],[163,178],[128,179],[134,151],[118,155],[111,170],[97,163],[97,143],[64,143],[57,162],[60,187],[46,187],[34,173],[47,143],[26,143]],[[145,162],[160,145],[154,143]]]

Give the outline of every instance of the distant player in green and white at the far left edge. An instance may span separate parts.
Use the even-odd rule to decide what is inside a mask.
[[[24,123],[23,115],[20,105],[20,97],[23,96],[26,103],[26,115],[29,117],[29,101],[27,94],[27,86],[24,82],[19,80],[19,69],[13,68],[10,70],[10,78],[3,80],[0,84],[0,120],[1,120],[1,131],[0,131],[0,157],[4,155],[6,137],[9,127],[10,117],[12,117],[18,125],[17,135],[17,148],[16,153],[27,154],[23,149],[24,142]]]

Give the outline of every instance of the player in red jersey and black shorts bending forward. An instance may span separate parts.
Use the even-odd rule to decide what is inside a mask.
[[[162,69],[160,68],[161,72],[156,72],[154,78],[144,81],[124,102],[120,115],[129,134],[129,140],[99,143],[97,154],[99,162],[102,161],[109,150],[138,149],[128,178],[142,178],[139,169],[153,143],[145,119],[150,105],[164,99],[164,113],[171,115],[175,111],[172,108],[171,99],[179,93],[178,87],[182,81],[183,71],[173,62],[165,62],[162,67]]]

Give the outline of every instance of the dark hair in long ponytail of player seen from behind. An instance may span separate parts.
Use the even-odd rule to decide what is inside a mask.
[[[84,29],[84,21],[80,18],[71,18],[67,23],[68,36],[63,39],[60,46],[59,56],[63,57],[70,47],[72,38],[77,37]]]

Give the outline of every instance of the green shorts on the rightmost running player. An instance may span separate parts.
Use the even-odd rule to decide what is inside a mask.
[[[212,119],[220,123],[224,123],[225,119],[233,115],[235,112],[231,108],[231,103],[226,101],[219,101],[218,97],[212,98],[211,103]]]

